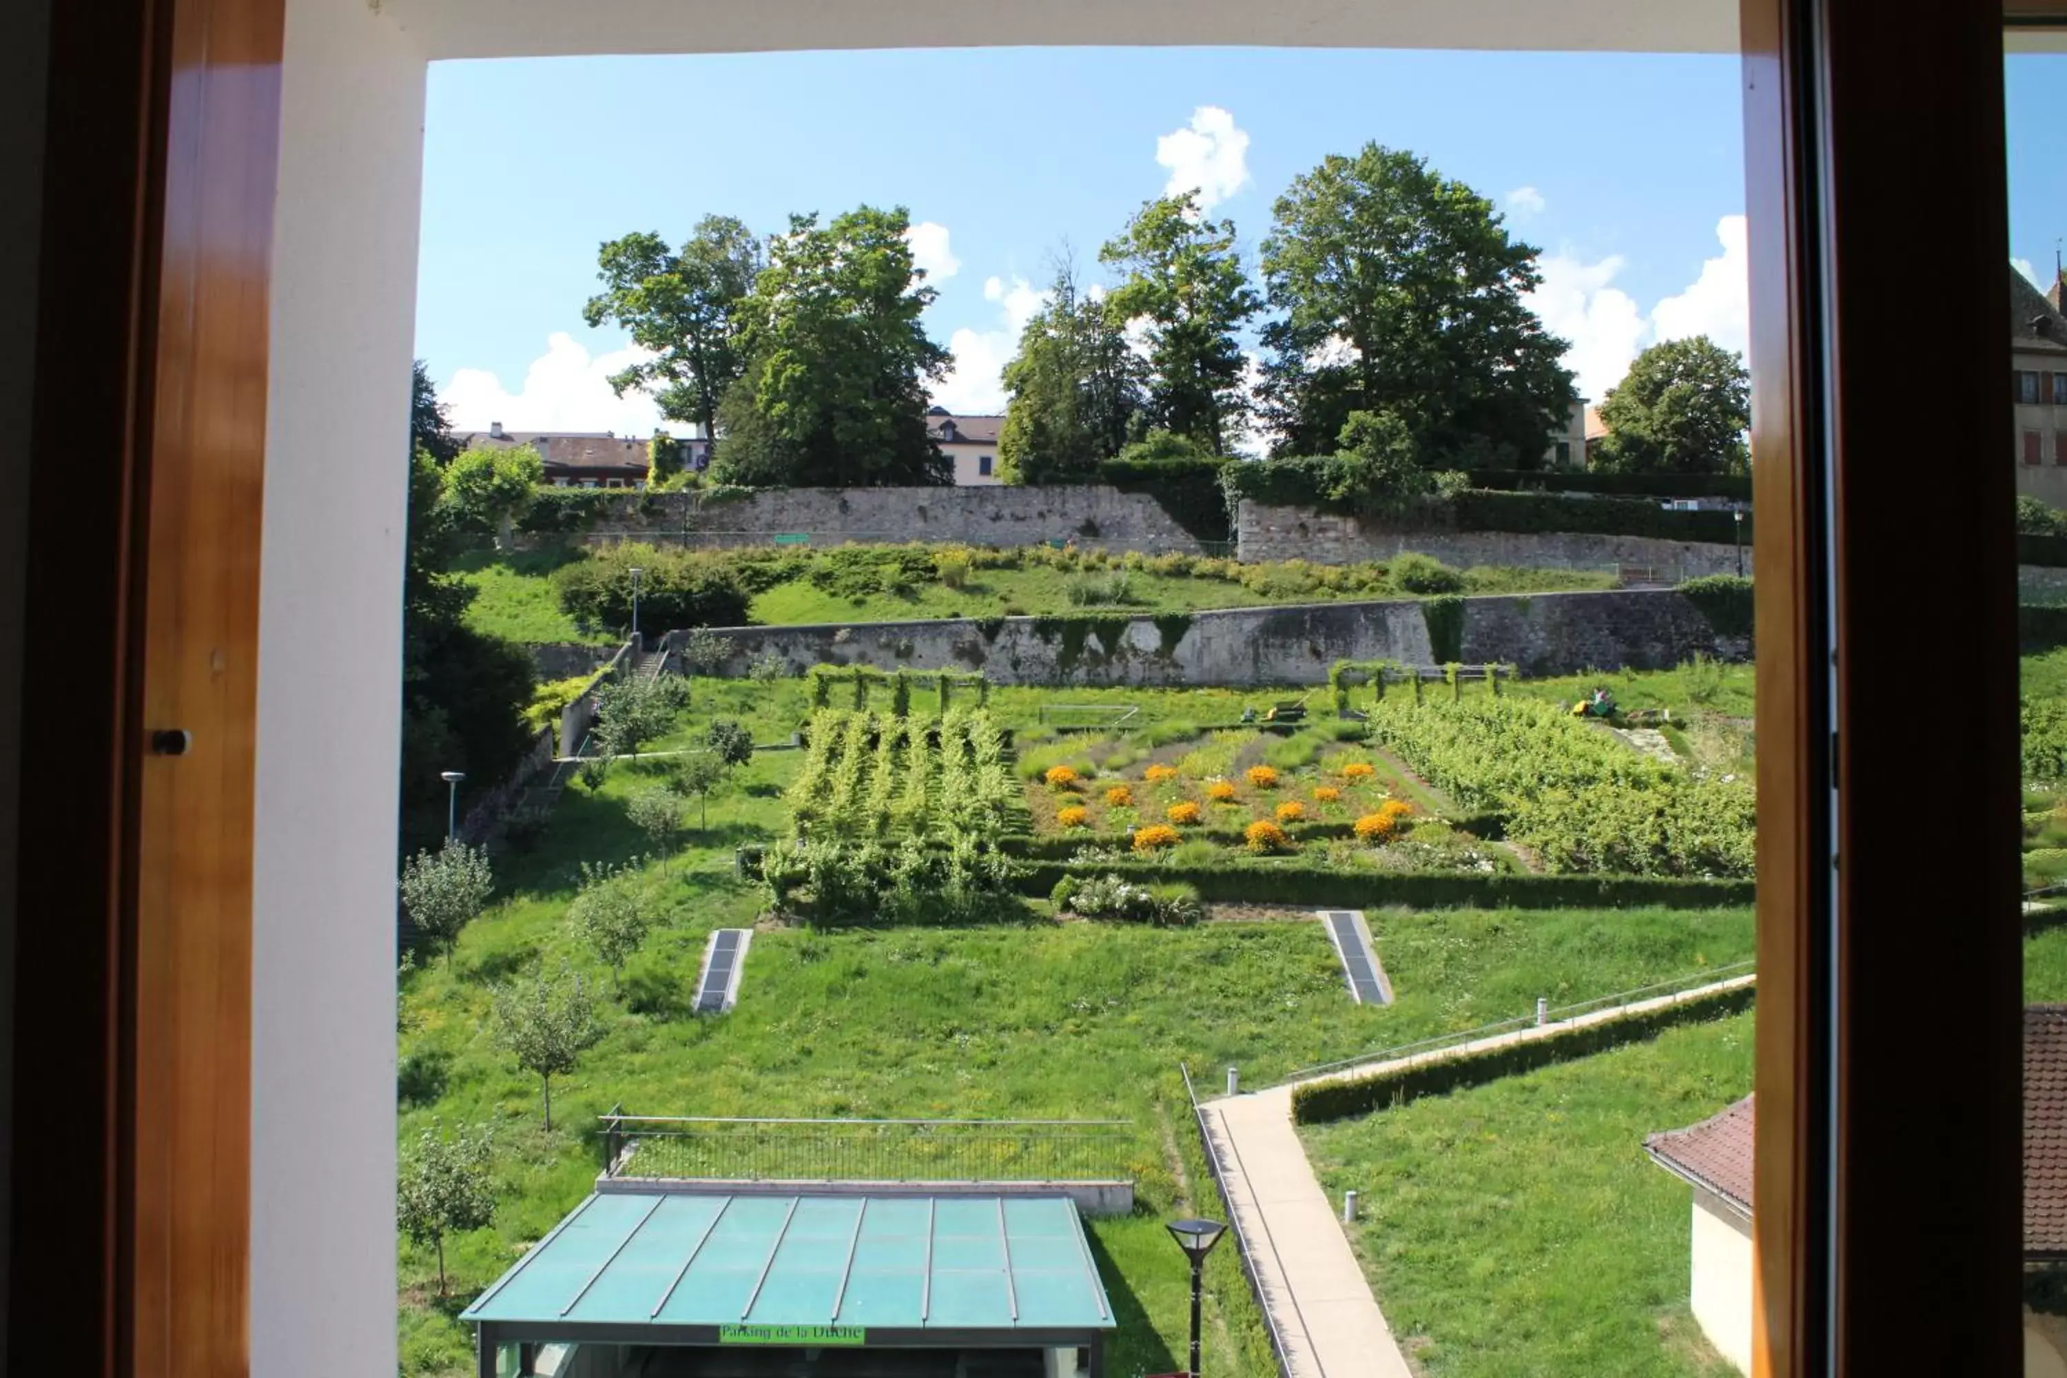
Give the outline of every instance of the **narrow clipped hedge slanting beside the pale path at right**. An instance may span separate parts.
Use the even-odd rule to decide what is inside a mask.
[[[1757,988],[1747,983],[1656,1010],[1563,1029],[1540,1039],[1517,1039],[1499,1047],[1430,1058],[1428,1062],[1379,1072],[1377,1076],[1317,1081],[1292,1091],[1292,1120],[1294,1124],[1327,1124],[1329,1120],[1366,1116],[1372,1109],[1406,1105],[1424,1095],[1447,1095],[1466,1087],[1482,1087],[1488,1081],[1534,1072],[1552,1062],[1587,1058],[1625,1043],[1641,1043],[1676,1025],[1738,1014],[1749,1010],[1755,1000]]]

